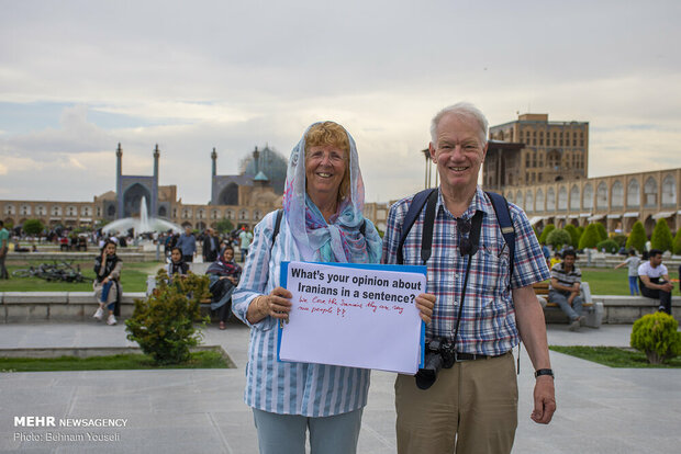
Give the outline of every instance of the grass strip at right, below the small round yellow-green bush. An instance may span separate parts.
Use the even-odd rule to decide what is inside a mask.
[[[559,353],[593,361],[610,367],[625,368],[681,368],[681,356],[670,360],[667,364],[650,364],[646,354],[637,350],[621,349],[618,347],[563,347],[550,345],[550,350]]]

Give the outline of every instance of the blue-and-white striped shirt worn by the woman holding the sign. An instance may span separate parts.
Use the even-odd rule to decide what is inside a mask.
[[[278,238],[270,245],[277,212],[269,213],[255,227],[248,260],[232,310],[250,327],[246,366],[246,405],[280,415],[327,417],[357,410],[367,405],[370,371],[325,364],[277,361],[277,320],[266,317],[257,324],[246,319],[248,305],[257,296],[279,286],[281,261],[301,260],[299,251]],[[369,220],[367,220],[369,222]],[[279,237],[290,235],[281,222]]]

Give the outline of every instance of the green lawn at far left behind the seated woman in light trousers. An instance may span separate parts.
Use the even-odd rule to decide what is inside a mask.
[[[0,281],[0,292],[91,292],[92,281],[94,280],[94,271],[92,271],[92,261],[74,261],[72,264],[80,265],[80,272],[86,277],[86,282],[47,282],[38,277],[15,277],[12,272],[29,266],[37,266],[42,263],[37,261],[12,262],[8,264],[10,280]],[[49,261],[47,263],[51,263]],[[156,274],[156,270],[163,266],[163,262],[123,262],[123,271],[121,273],[121,285],[123,292],[146,292],[146,276]]]

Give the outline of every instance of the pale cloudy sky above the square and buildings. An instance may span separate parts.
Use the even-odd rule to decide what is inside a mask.
[[[211,159],[288,157],[333,120],[368,202],[423,189],[429,122],[476,104],[590,123],[589,177],[681,167],[681,2],[0,0],[0,200],[88,202],[123,173],[208,203]]]

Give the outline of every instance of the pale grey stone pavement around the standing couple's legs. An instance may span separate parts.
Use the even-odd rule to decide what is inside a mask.
[[[570,332],[551,325],[549,343],[624,347],[630,328]],[[252,412],[242,399],[248,330],[211,327],[205,343],[222,345],[237,368],[0,374],[0,452],[257,453]],[[0,327],[0,349],[125,345],[132,343],[122,325]],[[549,425],[538,425],[529,419],[532,365],[524,350],[521,355],[514,453],[679,452],[681,371],[616,370],[551,353],[558,411]],[[359,453],[395,452],[393,381],[392,373],[372,373]],[[21,416],[53,416],[57,427],[15,428]],[[121,418],[125,427],[66,428],[58,427],[59,418]],[[111,441],[90,440],[91,433]]]

